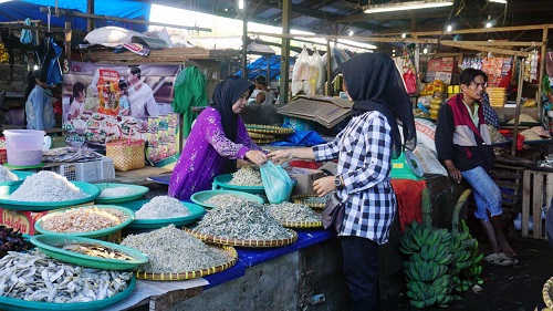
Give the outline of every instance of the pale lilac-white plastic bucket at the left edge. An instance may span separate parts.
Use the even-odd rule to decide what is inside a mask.
[[[14,166],[34,166],[42,163],[44,131],[6,129],[6,149],[8,164]]]

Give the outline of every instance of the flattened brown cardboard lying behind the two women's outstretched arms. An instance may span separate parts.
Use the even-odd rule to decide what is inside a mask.
[[[352,111],[353,102],[324,95],[301,95],[276,112],[283,115],[305,118],[328,128],[346,118]]]

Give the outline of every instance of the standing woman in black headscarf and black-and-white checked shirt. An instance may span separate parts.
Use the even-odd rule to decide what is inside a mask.
[[[336,176],[313,183],[319,196],[332,191],[345,203],[338,236],[352,310],[378,310],[379,246],[388,241],[396,211],[390,185],[392,158],[404,137],[415,139],[411,103],[394,61],[384,53],[364,53],[340,65],[349,99],[352,120],[333,142],[312,148],[275,151],[273,159],[337,158]]]

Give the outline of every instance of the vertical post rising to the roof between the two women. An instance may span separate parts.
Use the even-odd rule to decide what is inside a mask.
[[[292,13],[292,1],[282,1],[282,34],[290,34],[290,14]],[[290,80],[290,38],[282,38],[281,63],[280,63],[280,103],[288,104]]]

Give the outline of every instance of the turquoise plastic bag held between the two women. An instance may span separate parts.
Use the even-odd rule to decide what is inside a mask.
[[[290,200],[294,182],[284,168],[268,160],[261,166],[260,172],[269,203],[280,204]]]

